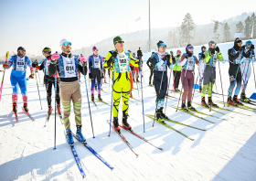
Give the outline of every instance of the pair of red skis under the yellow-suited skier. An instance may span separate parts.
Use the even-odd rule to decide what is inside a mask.
[[[110,124],[109,120],[107,120],[107,122]],[[146,140],[143,136],[139,135],[138,133],[135,133],[133,132],[133,130],[128,130],[126,128],[124,128],[122,125],[119,125],[119,127],[123,128],[123,130],[126,130],[127,132],[129,133],[133,133],[133,135],[137,136],[138,138],[142,139],[144,142],[146,142],[147,144],[151,144],[148,140]],[[114,127],[113,127],[113,122],[112,122],[112,129],[114,130]],[[115,130],[114,130],[115,131]],[[134,151],[133,151],[133,147],[132,145],[126,140],[126,138],[123,136],[123,134],[119,131],[115,131],[115,133],[118,133],[118,135],[122,138],[123,142],[125,144],[127,144],[127,146],[131,149],[131,151],[133,152],[133,154],[135,154],[137,157],[139,156],[139,154],[136,154]],[[155,146],[154,144],[151,144],[153,145],[155,148],[163,151],[163,148],[159,148],[157,146]]]

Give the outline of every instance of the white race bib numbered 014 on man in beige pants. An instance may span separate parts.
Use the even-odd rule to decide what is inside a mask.
[[[73,78],[77,77],[76,75],[76,66],[75,66],[75,59],[72,58],[65,58],[62,56],[63,59],[63,66],[65,71],[65,78]]]

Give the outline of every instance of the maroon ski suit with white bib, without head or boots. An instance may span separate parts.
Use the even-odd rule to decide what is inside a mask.
[[[183,70],[181,72],[181,83],[183,85],[183,94],[182,94],[182,102],[185,103],[187,101],[192,100],[192,91],[194,87],[194,69],[195,64],[199,64],[199,61],[196,56],[187,57],[187,53],[184,53],[181,56],[181,66]]]

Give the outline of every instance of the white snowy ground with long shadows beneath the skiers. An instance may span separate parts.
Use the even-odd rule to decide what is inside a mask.
[[[256,65],[255,65],[256,67]],[[147,69],[144,63],[144,70]],[[229,86],[228,63],[221,63],[221,74],[224,94]],[[64,127],[57,119],[57,150],[54,146],[54,116],[51,117],[47,127],[44,127],[47,113],[46,91],[42,85],[43,73],[40,72],[39,90],[43,110],[38,101],[36,80],[27,81],[28,106],[30,113],[36,119],[32,122],[22,112],[22,98],[18,98],[18,117],[16,123],[12,115],[12,87],[9,76],[11,70],[5,72],[5,84],[2,95],[0,115],[0,175],[1,180],[81,180],[80,171],[73,155],[66,144]],[[168,70],[169,72],[169,70]],[[3,72],[0,73],[2,77]],[[38,74],[37,74],[38,75]],[[155,89],[148,87],[149,71],[144,72],[144,112],[154,114]],[[197,71],[196,71],[197,76]],[[38,79],[38,77],[37,77]],[[83,78],[82,78],[83,80]],[[39,80],[38,80],[39,81]],[[196,81],[196,80],[195,80]],[[180,85],[181,89],[181,85]],[[216,87],[214,86],[214,91]],[[103,85],[102,99],[111,103],[109,84]],[[133,131],[140,133],[152,144],[164,149],[160,151],[150,144],[122,130],[123,135],[132,144],[133,150],[139,154],[138,158],[123,143],[117,133],[111,131],[106,122],[110,119],[110,106],[97,102],[99,109],[91,103],[93,128],[96,138],[92,138],[90,115],[86,97],[85,84],[81,84],[83,97],[82,119],[83,133],[88,144],[101,154],[101,156],[114,167],[113,170],[103,165],[82,144],[76,142],[75,148],[80,156],[87,180],[256,180],[256,112],[244,111],[239,108],[229,108],[235,112],[250,114],[244,116],[240,113],[227,113],[225,116],[217,112],[208,112],[194,104],[198,111],[207,112],[225,118],[226,121],[203,116],[215,122],[210,123],[197,119],[185,112],[176,112],[169,105],[176,105],[177,100],[168,100],[166,114],[177,122],[207,129],[206,132],[167,122],[178,131],[187,134],[195,141],[188,140],[165,126],[145,117],[145,133],[140,101],[130,102],[129,122]],[[217,91],[221,91],[219,69],[217,69]],[[255,92],[254,80],[251,77],[247,95]],[[97,96],[97,93],[95,93]],[[173,95],[173,94],[172,94]],[[138,92],[133,91],[138,98]],[[141,96],[141,95],[140,95]],[[179,95],[176,93],[175,95]],[[225,97],[226,101],[227,97]],[[222,101],[221,96],[214,94],[213,101]],[[196,91],[195,102],[200,102],[200,94]],[[219,106],[223,106],[219,104]],[[120,112],[120,119],[121,119]],[[222,116],[222,117],[221,117]],[[71,113],[71,129],[75,131],[74,114]]]

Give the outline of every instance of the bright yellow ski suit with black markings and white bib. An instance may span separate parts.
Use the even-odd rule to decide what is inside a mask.
[[[131,54],[127,51],[118,52],[118,55],[112,61],[112,53],[114,50],[109,51],[104,63],[104,69],[112,69],[113,80],[113,104],[112,104],[112,115],[118,117],[119,104],[123,101],[123,116],[128,114],[129,110],[129,95],[131,91],[130,82],[130,63],[134,67],[139,66],[139,59],[133,59]]]

